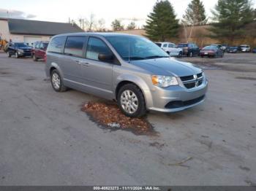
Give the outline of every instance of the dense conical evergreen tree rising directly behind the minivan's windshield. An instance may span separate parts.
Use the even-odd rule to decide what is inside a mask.
[[[176,37],[178,27],[178,19],[176,19],[173,6],[167,0],[157,1],[144,26],[146,36],[155,41],[165,41]]]

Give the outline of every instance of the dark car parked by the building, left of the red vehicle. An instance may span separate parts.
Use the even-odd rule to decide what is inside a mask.
[[[21,56],[31,56],[32,49],[28,44],[23,42],[11,43],[7,48],[7,56],[10,58],[12,55],[15,55],[15,58],[19,58]]]

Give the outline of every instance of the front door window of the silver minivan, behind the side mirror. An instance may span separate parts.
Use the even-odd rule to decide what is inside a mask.
[[[99,54],[112,54],[112,52],[101,39],[90,37],[87,44],[86,58],[99,61]]]

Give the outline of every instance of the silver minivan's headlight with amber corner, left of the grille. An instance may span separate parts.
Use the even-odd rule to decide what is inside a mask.
[[[167,77],[167,76],[157,76],[154,75],[151,77],[153,85],[159,87],[168,87],[170,85],[178,85],[178,80],[176,77]]]

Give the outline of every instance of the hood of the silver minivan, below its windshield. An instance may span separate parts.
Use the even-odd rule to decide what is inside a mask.
[[[157,58],[131,61],[131,63],[155,75],[184,77],[202,72],[201,69],[193,66],[192,63],[177,61],[175,58]]]

